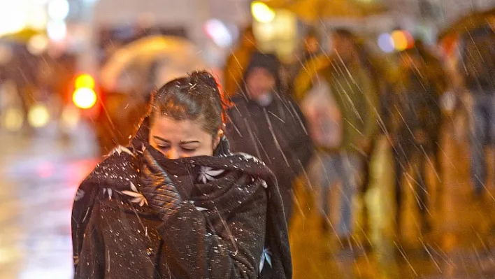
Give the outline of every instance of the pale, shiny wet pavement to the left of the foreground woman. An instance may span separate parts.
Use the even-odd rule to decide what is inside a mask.
[[[87,139],[0,134],[0,278],[72,277],[73,196],[96,164]]]

